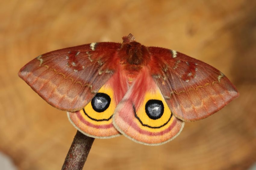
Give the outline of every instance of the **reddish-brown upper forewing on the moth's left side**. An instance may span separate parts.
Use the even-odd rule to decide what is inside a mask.
[[[120,46],[101,42],[45,53],[22,67],[19,76],[52,106],[77,111],[115,72]]]

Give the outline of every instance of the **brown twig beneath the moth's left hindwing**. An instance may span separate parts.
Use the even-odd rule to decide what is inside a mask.
[[[93,141],[94,138],[85,136],[77,131],[61,169],[82,170]]]

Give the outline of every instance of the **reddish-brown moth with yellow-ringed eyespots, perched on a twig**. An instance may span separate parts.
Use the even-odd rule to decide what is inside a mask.
[[[175,50],[93,42],[45,53],[20,78],[93,138],[121,134],[145,145],[177,137],[184,121],[217,112],[239,96],[219,70]]]

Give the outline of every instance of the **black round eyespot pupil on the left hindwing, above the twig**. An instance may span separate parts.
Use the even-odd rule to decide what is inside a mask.
[[[104,112],[109,107],[110,101],[110,96],[107,94],[97,93],[91,101],[92,108],[96,112]]]

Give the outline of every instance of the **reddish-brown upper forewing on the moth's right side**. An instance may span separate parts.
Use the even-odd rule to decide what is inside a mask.
[[[227,77],[212,66],[174,50],[148,49],[153,79],[177,118],[206,118],[239,96]]]

